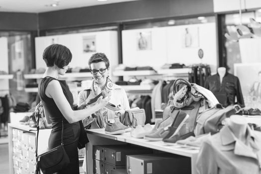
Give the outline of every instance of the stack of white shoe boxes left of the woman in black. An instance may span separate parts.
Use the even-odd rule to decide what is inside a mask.
[[[35,172],[35,134],[12,129],[13,173],[34,174]]]

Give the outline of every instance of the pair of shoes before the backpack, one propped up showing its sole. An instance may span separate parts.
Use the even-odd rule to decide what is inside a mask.
[[[157,130],[155,132],[152,130],[150,134],[144,136],[144,139],[149,141],[171,139],[178,133],[179,129],[183,126],[188,117],[189,115],[186,112],[179,110],[174,119],[172,117],[168,117],[159,123],[159,125],[155,125],[156,128],[154,128]],[[171,120],[173,121],[170,122]],[[167,123],[170,123],[170,125],[167,125]]]

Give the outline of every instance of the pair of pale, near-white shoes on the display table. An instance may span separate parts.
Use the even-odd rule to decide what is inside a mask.
[[[137,125],[136,127],[131,128],[130,135],[134,138],[143,138],[145,135],[149,134],[152,129],[153,128],[149,123],[145,124],[145,126]]]

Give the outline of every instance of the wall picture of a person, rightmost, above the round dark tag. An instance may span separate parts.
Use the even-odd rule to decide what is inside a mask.
[[[183,30],[184,48],[199,47],[199,27],[185,27]]]

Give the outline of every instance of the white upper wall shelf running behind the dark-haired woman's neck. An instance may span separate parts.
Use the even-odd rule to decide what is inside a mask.
[[[43,74],[25,74],[23,75],[24,79],[40,79],[43,77]],[[60,79],[66,78],[88,78],[93,77],[91,73],[67,73],[64,76],[59,76]]]

